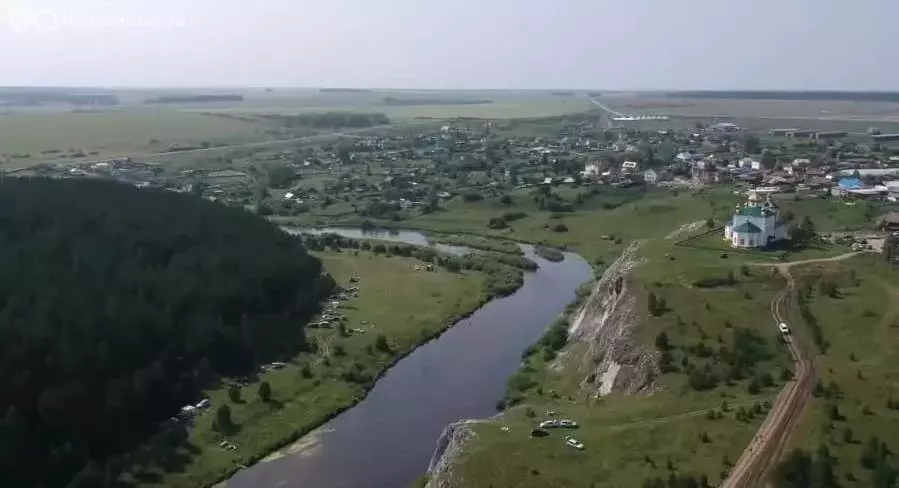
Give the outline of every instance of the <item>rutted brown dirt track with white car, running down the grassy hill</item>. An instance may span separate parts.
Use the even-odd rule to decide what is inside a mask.
[[[790,299],[796,288],[796,282],[790,274],[790,268],[802,264],[840,261],[860,253],[848,253],[841,256],[823,259],[809,259],[773,265],[787,280],[787,287],[771,300],[771,316],[775,324],[781,322],[792,324],[790,316]],[[772,266],[767,264],[766,266]],[[791,325],[791,334],[784,336],[790,354],[793,356],[793,379],[777,395],[777,399],[765,417],[762,426],[743,451],[734,465],[730,475],[721,483],[721,488],[752,488],[760,483],[765,473],[783,452],[784,445],[796,427],[805,405],[811,397],[818,375],[818,366],[814,346],[806,340],[801,331]]]

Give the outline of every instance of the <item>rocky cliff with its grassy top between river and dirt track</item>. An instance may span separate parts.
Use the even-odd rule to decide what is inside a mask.
[[[640,486],[672,469],[714,483],[726,473],[784,381],[777,329],[755,319],[782,283],[743,266],[742,256],[659,239],[628,253],[609,264],[571,321],[568,344],[556,352],[546,340],[532,350],[510,381],[516,408],[456,426],[458,445],[433,464],[440,471],[430,488]],[[726,286],[696,284],[729,275]],[[741,369],[728,363],[733,357]],[[530,438],[548,416],[579,428]],[[584,451],[566,446],[565,434]]]

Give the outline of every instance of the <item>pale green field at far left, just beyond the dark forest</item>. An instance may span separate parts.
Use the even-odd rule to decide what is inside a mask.
[[[159,142],[151,143],[151,139]],[[264,139],[253,124],[170,109],[0,115],[0,152],[31,155],[29,159],[12,158],[11,166],[63,159],[70,149],[83,151],[86,159],[102,159],[157,153],[170,144],[239,144]],[[62,152],[42,154],[46,151]]]

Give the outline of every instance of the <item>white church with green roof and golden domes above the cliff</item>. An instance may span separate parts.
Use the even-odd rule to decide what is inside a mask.
[[[758,248],[787,238],[777,205],[768,197],[761,201],[758,192],[749,191],[745,204],[737,206],[730,223],[724,226],[724,239],[732,247]]]

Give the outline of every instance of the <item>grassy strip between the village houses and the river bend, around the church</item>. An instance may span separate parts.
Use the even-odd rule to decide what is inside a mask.
[[[572,199],[579,189],[559,187],[555,193]],[[701,192],[672,192],[650,189],[646,193],[632,189],[627,192],[601,189],[574,212],[556,213],[539,210],[533,202],[531,190],[515,190],[511,201],[485,199],[465,202],[455,198],[443,204],[442,210],[427,215],[412,215],[400,222],[383,222],[394,227],[417,228],[448,234],[476,234],[571,248],[591,261],[617,255],[633,239],[653,239],[651,246],[670,247],[677,240],[706,230],[705,221],[712,218],[723,225],[741,197],[723,189]],[[626,202],[626,203],[622,203]],[[886,206],[865,203],[849,204],[840,199],[820,199],[786,196],[777,200],[781,212],[791,213],[795,221],[810,217],[820,232],[873,228],[877,216],[888,210]],[[613,208],[606,208],[609,205]],[[351,213],[348,205],[328,209],[313,209],[310,213],[285,221],[296,225],[359,225],[363,219]],[[517,213],[501,229],[488,227],[490,219]],[[557,232],[559,224],[564,231]],[[686,229],[693,224],[691,230]],[[680,229],[684,227],[684,229]],[[729,247],[718,235],[710,235],[700,244],[710,249],[728,252]],[[840,254],[841,247],[827,246],[791,253],[789,259],[808,259]],[[737,256],[740,253],[730,253]],[[745,254],[745,253],[744,253]],[[765,260],[778,257],[774,253],[747,254],[749,259]]]

